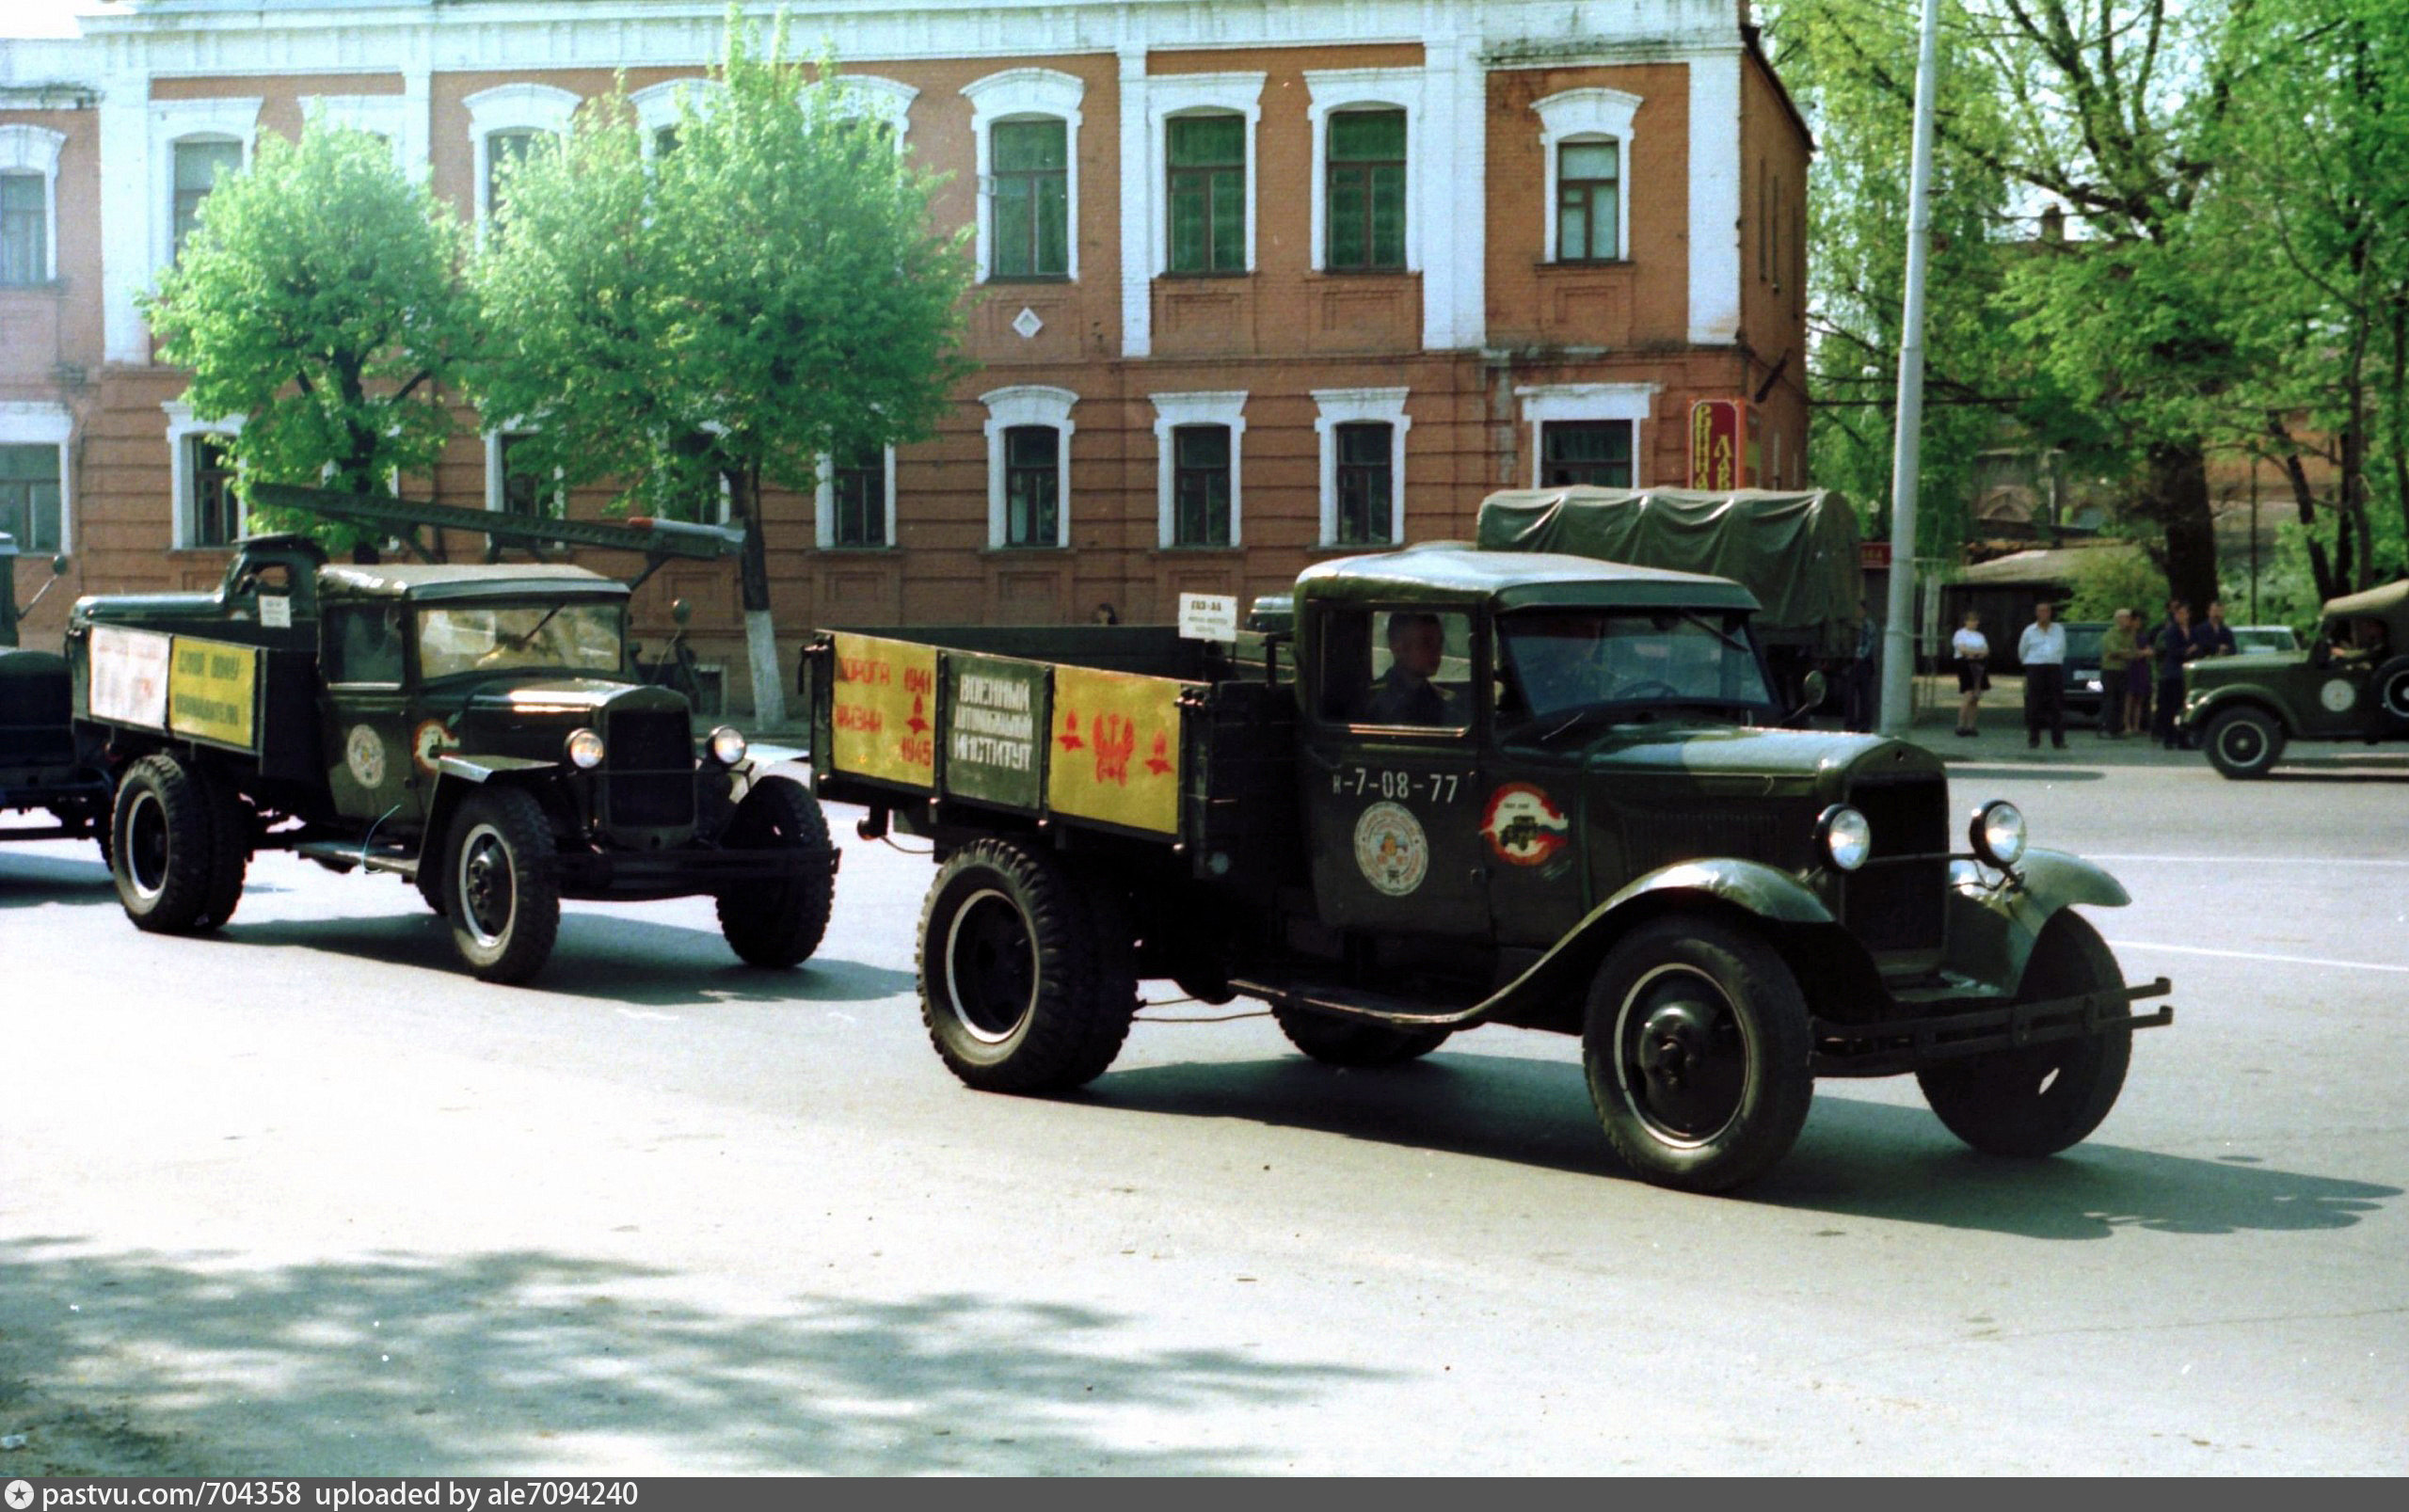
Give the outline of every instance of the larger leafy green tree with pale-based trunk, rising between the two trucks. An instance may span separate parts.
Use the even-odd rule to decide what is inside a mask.
[[[848,108],[834,60],[785,58],[783,19],[756,53],[730,12],[713,84],[653,159],[614,96],[503,173],[477,390],[487,417],[537,426],[528,462],[569,484],[670,510],[725,486],[754,710],[776,725],[761,489],[809,491],[826,455],[935,431],[971,371],[971,270],[966,234],[932,229],[937,178]]]

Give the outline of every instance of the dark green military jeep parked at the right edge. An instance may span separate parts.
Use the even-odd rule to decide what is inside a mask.
[[[2236,780],[2264,778],[2296,739],[2409,739],[2409,583],[2327,602],[2305,655],[2190,662],[2183,722]]]

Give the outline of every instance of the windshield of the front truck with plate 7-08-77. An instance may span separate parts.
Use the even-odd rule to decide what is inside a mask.
[[[1747,616],[1725,609],[1539,609],[1498,619],[1498,715],[1773,703]]]

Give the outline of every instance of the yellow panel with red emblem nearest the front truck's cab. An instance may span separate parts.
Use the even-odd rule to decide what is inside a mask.
[[[1055,667],[1046,804],[1079,819],[1180,833],[1180,684]]]

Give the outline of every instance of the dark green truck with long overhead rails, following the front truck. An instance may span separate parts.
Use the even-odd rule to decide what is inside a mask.
[[[708,525],[516,520],[253,489],[390,532],[475,530],[715,559]],[[641,580],[641,578],[638,578]],[[142,929],[224,925],[260,847],[383,872],[448,915],[460,961],[523,982],[561,898],[708,893],[740,958],[805,961],[836,852],[809,790],[732,727],[696,739],[626,645],[631,585],[561,563],[332,563],[236,547],[214,592],[84,597],[67,626],[79,749],[116,775],[111,869]]]

